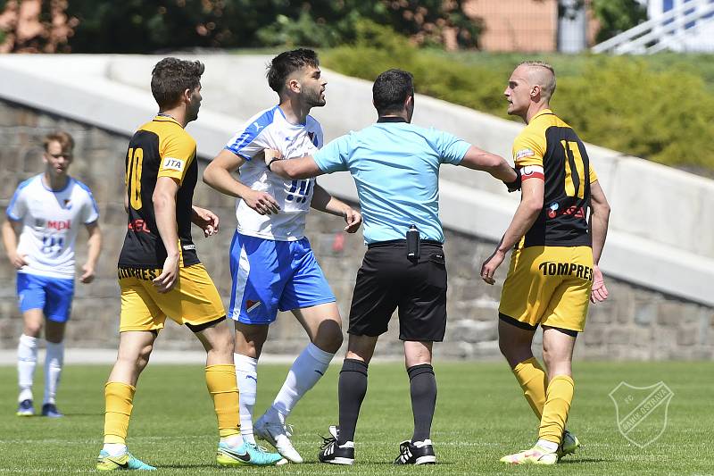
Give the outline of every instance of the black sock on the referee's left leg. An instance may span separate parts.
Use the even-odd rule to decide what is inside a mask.
[[[367,394],[367,363],[356,359],[345,359],[340,371],[338,385],[340,404],[340,431],[337,444],[354,441],[354,429],[360,416],[362,400]]]

